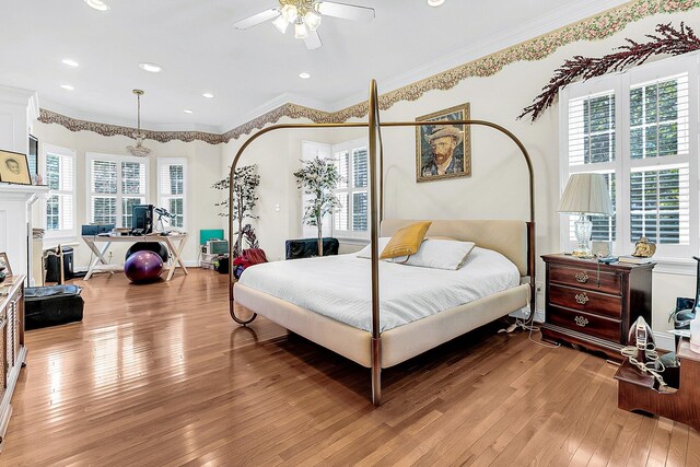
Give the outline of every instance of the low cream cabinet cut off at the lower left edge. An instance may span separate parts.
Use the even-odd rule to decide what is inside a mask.
[[[8,283],[10,282],[11,283]],[[24,276],[0,283],[0,450],[12,413],[12,393],[26,359],[24,347]]]

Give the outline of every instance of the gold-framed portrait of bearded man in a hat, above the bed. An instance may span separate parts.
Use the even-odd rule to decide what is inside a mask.
[[[470,118],[469,103],[456,105],[443,110],[433,112],[416,118],[416,121],[431,120],[468,120]],[[436,128],[440,127],[440,128]],[[452,153],[454,166],[450,164],[448,170],[456,172],[435,174],[436,164],[429,142],[430,136],[444,129],[445,125],[427,125],[416,127],[416,182],[434,182],[440,179],[470,177],[471,176],[471,131],[469,125],[453,125],[462,135],[462,141],[455,144]],[[458,140],[457,140],[458,141]],[[439,172],[439,171],[438,171]]]

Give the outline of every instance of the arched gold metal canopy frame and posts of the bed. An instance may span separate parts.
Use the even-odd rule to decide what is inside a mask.
[[[527,272],[530,279],[530,313],[527,323],[532,325],[535,319],[535,172],[533,163],[525,149],[525,145],[521,142],[515,135],[500,125],[486,121],[486,120],[444,120],[444,121],[392,121],[380,122],[380,106],[378,106],[378,93],[376,81],[370,82],[370,98],[369,98],[369,121],[368,122],[353,122],[353,124],[281,124],[273,125],[268,128],[264,128],[248,138],[245,143],[238,149],[233,163],[231,164],[231,172],[229,173],[229,258],[233,261],[233,195],[234,195],[234,174],[241,155],[248,148],[248,145],[262,135],[279,130],[279,129],[292,129],[292,128],[369,128],[369,171],[370,171],[370,230],[371,230],[371,252],[372,252],[372,402],[378,406],[382,402],[382,334],[380,327],[380,253],[378,253],[378,234],[380,222],[384,218],[384,154],[382,148],[382,127],[419,127],[427,125],[476,125],[493,128],[505,136],[508,136],[521,150],[523,157],[527,164],[528,171],[528,195],[529,195],[529,222],[527,222]],[[378,154],[377,154],[378,150]],[[377,174],[378,163],[378,174]],[[378,177],[378,180],[377,180]],[[376,196],[378,184],[378,197]],[[378,215],[377,215],[378,214]],[[241,245],[238,245],[240,249]],[[233,287],[235,284],[235,278],[233,276],[233,267],[229,267],[229,313],[236,323],[246,326],[252,323],[257,314],[253,314],[249,318],[240,318],[235,314],[235,303]]]

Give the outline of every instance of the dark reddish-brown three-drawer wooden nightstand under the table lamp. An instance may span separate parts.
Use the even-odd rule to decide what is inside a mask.
[[[542,338],[602,351],[621,362],[630,325],[639,316],[651,325],[655,265],[598,265],[561,254],[542,259],[547,296]]]

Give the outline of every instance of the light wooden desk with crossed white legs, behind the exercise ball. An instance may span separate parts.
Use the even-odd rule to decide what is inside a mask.
[[[159,233],[149,234],[149,235],[121,235],[121,236],[100,236],[100,235],[84,235],[83,241],[90,248],[92,253],[95,254],[95,259],[90,264],[90,268],[88,268],[88,272],[85,273],[84,280],[90,280],[94,272],[98,271],[113,271],[114,269],[107,268],[108,262],[105,260],[105,253],[112,246],[114,242],[126,242],[126,243],[137,243],[137,242],[162,242],[167,247],[167,252],[171,255],[171,265],[165,266],[164,270],[167,271],[167,276],[165,278],[166,281],[173,279],[173,275],[175,273],[175,268],[178,266],[183,268],[183,272],[187,273],[187,267],[180,257],[180,253],[183,253],[183,247],[185,246],[185,242],[187,241],[186,233],[171,234],[171,235],[161,235]],[[104,243],[105,245],[102,248],[97,248],[96,243]]]

